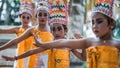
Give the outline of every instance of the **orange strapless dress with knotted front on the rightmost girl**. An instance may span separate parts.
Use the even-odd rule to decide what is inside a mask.
[[[118,68],[118,49],[113,46],[88,48],[87,68]]]

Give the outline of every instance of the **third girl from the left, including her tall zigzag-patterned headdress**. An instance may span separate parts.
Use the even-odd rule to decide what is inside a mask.
[[[52,10],[50,11],[50,26],[51,26],[51,31],[53,33],[54,39],[63,39],[65,38],[65,35],[68,31],[67,29],[67,20],[66,20],[66,11],[63,11],[65,9],[64,7],[54,7],[56,6],[55,4],[52,4],[51,7]],[[60,6],[60,5],[59,5]],[[65,5],[63,5],[65,6]],[[54,13],[53,13],[54,12]],[[39,47],[39,46],[38,46]],[[42,52],[45,49],[43,48],[36,48],[33,50],[30,50],[20,56],[17,56],[17,60]],[[69,62],[70,62],[70,50],[68,48],[59,48],[59,49],[52,49],[52,59],[53,61],[51,62],[54,64],[52,68],[69,68]],[[75,50],[72,50],[73,53],[78,55],[78,52]],[[9,57],[7,60],[16,60],[14,57]],[[40,62],[39,62],[40,63]]]

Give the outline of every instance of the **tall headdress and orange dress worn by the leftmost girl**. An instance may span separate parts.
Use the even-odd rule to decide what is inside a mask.
[[[19,10],[19,15],[22,13],[28,13],[32,16],[32,8],[31,8],[31,3],[29,1],[22,1],[21,5],[20,5],[20,10]],[[17,37],[19,37],[20,35],[22,35],[25,32],[24,28],[20,28],[17,34]],[[31,44],[34,38],[29,37],[26,40],[23,40],[22,42],[20,42],[17,46],[17,55],[20,55],[24,52],[26,52],[27,50],[30,50],[31,48]],[[17,61],[17,68],[27,68],[27,60],[28,58],[25,59],[20,59]]]

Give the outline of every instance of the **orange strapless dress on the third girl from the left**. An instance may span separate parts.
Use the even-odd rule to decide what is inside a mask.
[[[70,51],[68,49],[54,49],[55,68],[69,68]]]

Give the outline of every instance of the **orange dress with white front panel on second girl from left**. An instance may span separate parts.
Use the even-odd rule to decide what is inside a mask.
[[[37,34],[39,38],[41,38],[42,42],[48,42],[53,40],[53,35],[50,32],[42,32],[37,29],[34,29],[34,34]],[[34,45],[32,49],[36,48]],[[28,68],[51,68],[51,49],[41,52],[39,54],[35,54],[30,56],[29,59],[29,67]]]

